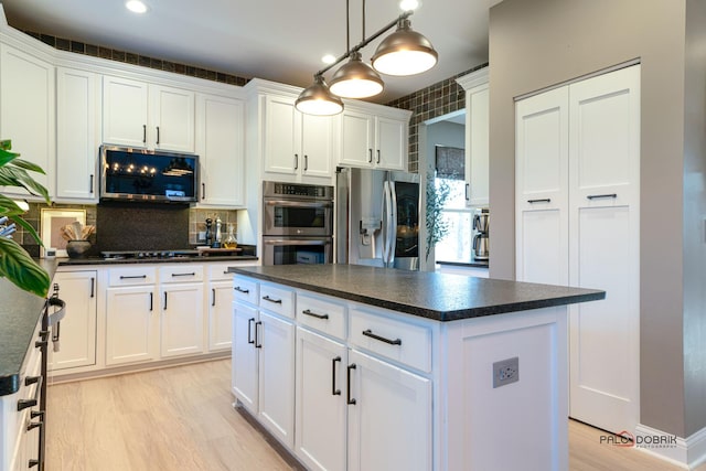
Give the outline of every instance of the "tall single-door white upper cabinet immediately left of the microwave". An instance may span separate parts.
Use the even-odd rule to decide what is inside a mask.
[[[98,200],[98,119],[100,77],[56,68],[56,199]]]

